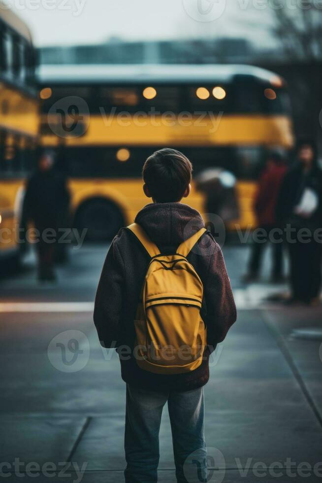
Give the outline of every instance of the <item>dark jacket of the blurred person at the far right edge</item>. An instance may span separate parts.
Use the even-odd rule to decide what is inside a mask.
[[[319,206],[310,218],[294,214],[305,188],[312,188],[319,197]],[[276,217],[280,223],[312,229],[322,226],[322,171],[315,165],[304,173],[302,165],[296,164],[284,177],[276,205]]]

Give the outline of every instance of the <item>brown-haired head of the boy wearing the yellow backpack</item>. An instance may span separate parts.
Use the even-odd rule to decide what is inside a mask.
[[[143,166],[143,190],[155,203],[175,203],[191,190],[193,166],[176,149],[164,148],[148,157]]]

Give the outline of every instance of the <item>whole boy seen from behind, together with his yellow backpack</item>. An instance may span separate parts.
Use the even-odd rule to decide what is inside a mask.
[[[225,339],[235,322],[236,307],[220,246],[205,230],[200,214],[181,203],[191,190],[191,162],[179,151],[161,149],[146,160],[143,179],[144,193],[153,203],[138,212],[133,225],[120,230],[109,248],[97,288],[94,321],[101,345],[117,347],[122,378],[127,383],[126,482],[158,481],[159,430],[166,403],[177,481],[187,482],[187,458],[190,468],[195,469],[195,463],[199,465],[202,476],[207,471],[203,386],[209,379],[210,352]],[[147,272],[148,267],[152,275]],[[200,284],[195,278],[190,285],[195,275],[203,285],[205,312],[202,303],[197,308],[192,292],[187,292],[189,287],[193,290],[194,286],[195,290]],[[174,280],[175,285],[170,283]],[[147,295],[150,283],[157,298]],[[145,318],[146,311],[149,319]],[[186,339],[189,330],[192,338]],[[197,360],[188,363],[187,351],[181,359],[179,350],[172,351],[183,338],[191,341],[184,346],[193,350],[192,341],[199,341],[200,337],[204,339]],[[137,348],[146,350],[147,355],[142,357]],[[170,357],[165,354],[168,350]],[[153,352],[157,356],[154,363]]]

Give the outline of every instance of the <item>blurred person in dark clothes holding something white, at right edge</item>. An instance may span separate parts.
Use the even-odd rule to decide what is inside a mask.
[[[315,304],[321,288],[322,170],[311,140],[298,144],[297,161],[284,178],[276,213],[285,226],[290,253],[288,302]]]

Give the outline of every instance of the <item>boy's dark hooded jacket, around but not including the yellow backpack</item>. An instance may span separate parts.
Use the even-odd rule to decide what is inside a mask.
[[[196,230],[204,227],[200,214],[180,203],[156,203],[144,207],[136,216],[148,236],[162,253],[174,253],[178,245]],[[198,248],[188,255],[204,286],[203,318],[207,325],[208,344],[216,346],[225,339],[236,320],[236,307],[225,262],[219,245],[206,232]],[[122,228],[108,250],[100,276],[94,311],[94,321],[101,344],[118,347],[122,378],[126,382],[149,389],[175,388],[189,390],[209,379],[209,353],[206,349],[201,366],[190,373],[178,375],[152,374],[140,369],[132,355],[135,332],[134,316],[144,276],[150,259],[141,243],[127,228]],[[127,359],[127,360],[124,360]]]

